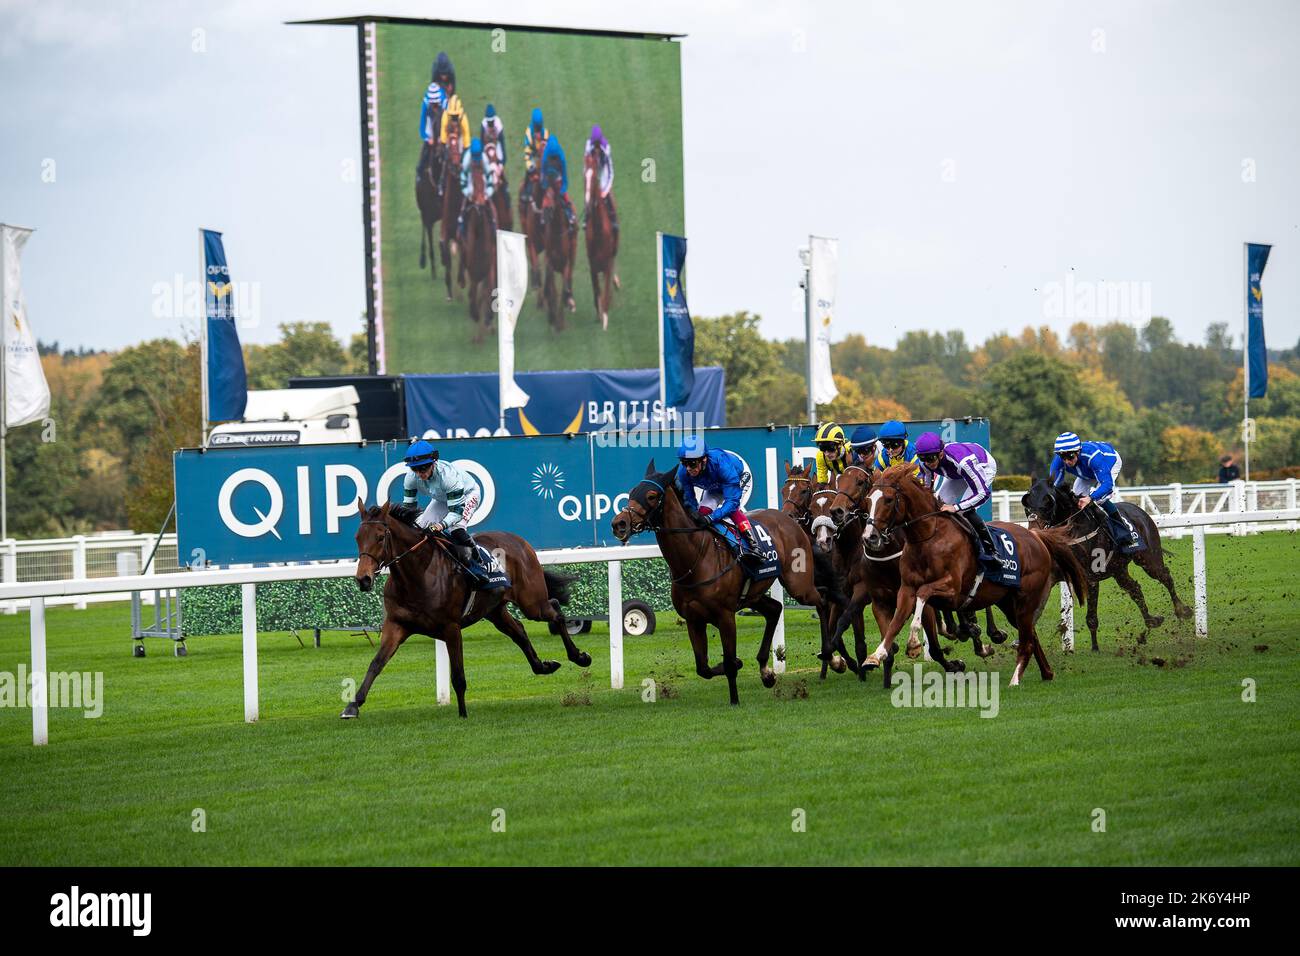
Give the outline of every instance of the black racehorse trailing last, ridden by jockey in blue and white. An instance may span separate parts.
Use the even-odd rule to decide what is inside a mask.
[[[1160,540],[1160,529],[1150,520],[1150,515],[1136,505],[1121,502],[1119,509],[1138,528],[1147,548],[1136,554],[1124,554],[1115,546],[1106,512],[1098,506],[1079,510],[1074,493],[1063,485],[1053,486],[1046,481],[1035,481],[1020,498],[1020,503],[1024,505],[1030,527],[1063,527],[1070,532],[1070,544],[1074,546],[1075,557],[1088,575],[1088,631],[1092,633],[1093,650],[1097,650],[1097,594],[1101,589],[1101,581],[1106,578],[1114,578],[1115,584],[1128,592],[1128,597],[1138,605],[1148,628],[1165,623],[1162,617],[1153,615],[1147,610],[1141,585],[1128,574],[1130,561],[1136,561],[1148,576],[1165,585],[1174,602],[1174,614],[1178,615],[1179,620],[1192,617],[1192,609],[1183,604],[1178,592],[1174,591],[1174,576],[1169,572],[1169,566],[1165,564],[1165,549]],[[1145,631],[1138,636],[1138,643],[1147,643]]]

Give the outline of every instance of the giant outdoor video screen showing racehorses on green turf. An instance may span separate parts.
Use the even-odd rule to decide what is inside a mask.
[[[497,369],[498,230],[526,237],[516,369],[656,365],[655,232],[685,225],[677,43],[367,22],[363,57],[380,368]]]

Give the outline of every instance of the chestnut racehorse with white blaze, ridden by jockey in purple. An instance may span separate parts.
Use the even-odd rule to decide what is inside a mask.
[[[897,607],[884,640],[867,657],[866,666],[892,659],[894,637],[907,615],[913,618],[915,632],[927,605],[952,610],[997,605],[1019,633],[1011,685],[1020,683],[1030,654],[1037,661],[1043,679],[1050,680],[1052,666],[1043,653],[1035,624],[1052,596],[1052,585],[1061,580],[1062,587],[1074,591],[1075,600],[1087,598],[1087,575],[1074,557],[1069,533],[1060,528],[1039,531],[991,522],[991,528],[1008,532],[1015,541],[1020,585],[991,584],[979,568],[974,533],[957,515],[940,511],[935,496],[916,484],[911,471],[907,463],[887,468],[872,484],[863,505],[870,546],[879,548],[894,537],[905,545],[898,561]]]

